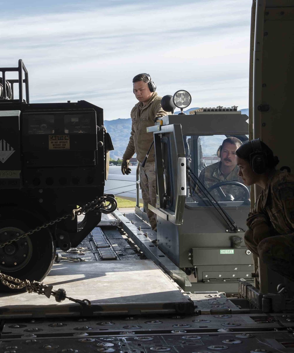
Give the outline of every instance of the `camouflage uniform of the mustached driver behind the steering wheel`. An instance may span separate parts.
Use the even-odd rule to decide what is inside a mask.
[[[221,161],[211,164],[210,166],[207,166],[204,169],[202,169],[199,175],[199,179],[208,189],[212,185],[221,183],[222,181],[237,181],[243,184],[242,179],[238,176],[239,167],[237,165],[226,178],[222,175],[220,166],[221,166]],[[244,192],[244,189],[241,186],[224,185],[224,186],[221,186],[221,188],[226,195],[230,194],[234,198],[246,195]],[[200,197],[204,197],[204,195],[202,195],[201,191],[199,190],[198,186],[196,186],[195,188],[195,193],[198,194],[198,196]],[[217,189],[212,190],[211,194],[216,199],[216,201],[222,201],[221,196],[218,193]]]

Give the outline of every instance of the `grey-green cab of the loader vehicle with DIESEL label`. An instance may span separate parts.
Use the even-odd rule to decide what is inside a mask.
[[[208,189],[211,198],[196,188],[200,172],[220,161],[226,137],[248,140],[248,116],[236,108],[167,115],[148,128],[155,145],[157,203],[149,208],[157,215],[157,246],[186,272],[192,292],[237,293],[240,278],[253,281],[252,253],[244,244],[249,190],[224,181]]]

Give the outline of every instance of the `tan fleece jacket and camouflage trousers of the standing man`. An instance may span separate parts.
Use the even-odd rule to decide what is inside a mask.
[[[171,114],[161,107],[161,97],[156,92],[152,94],[150,100],[143,105],[142,102],[137,103],[132,111],[132,130],[130,140],[126,151],[122,158],[130,159],[134,153],[137,154],[137,160],[140,162],[140,186],[142,190],[142,198],[144,208],[148,215],[152,229],[156,228],[155,214],[148,209],[148,204],[155,207],[156,205],[156,174],[155,174],[155,155],[154,146],[152,147],[145,167],[141,167],[146,153],[153,141],[153,133],[147,132],[146,128],[154,125],[156,118],[163,115]]]

